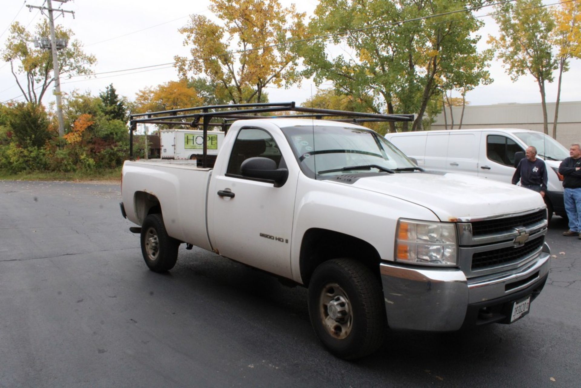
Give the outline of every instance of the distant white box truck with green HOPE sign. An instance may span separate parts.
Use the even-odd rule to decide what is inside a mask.
[[[207,155],[216,159],[224,141],[223,131],[207,131]],[[204,131],[164,129],[160,131],[162,159],[200,159],[204,151]]]

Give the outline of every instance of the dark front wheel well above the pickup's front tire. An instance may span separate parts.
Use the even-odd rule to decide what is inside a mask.
[[[381,258],[373,245],[349,234],[314,228],[304,234],[300,247],[300,276],[303,284],[309,286],[311,275],[318,265],[336,258],[352,258],[363,263],[381,282]]]

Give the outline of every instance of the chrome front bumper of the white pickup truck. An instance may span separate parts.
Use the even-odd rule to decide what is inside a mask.
[[[380,270],[388,325],[392,329],[454,331],[476,319],[478,311],[467,314],[475,308],[504,305],[529,291],[535,298],[546,282],[550,256],[544,243],[539,257],[521,268],[471,279],[459,269],[383,262]]]

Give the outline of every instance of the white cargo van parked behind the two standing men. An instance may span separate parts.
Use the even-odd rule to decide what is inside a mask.
[[[511,183],[515,152],[536,147],[537,157],[547,166],[547,204],[553,212],[566,217],[563,186],[557,174],[569,151],[544,133],[526,129],[460,129],[388,133],[385,137],[418,166],[440,172],[476,175]]]

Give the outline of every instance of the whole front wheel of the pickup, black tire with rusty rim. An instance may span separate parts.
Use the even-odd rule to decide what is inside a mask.
[[[322,344],[344,359],[373,353],[387,329],[379,281],[353,259],[332,259],[315,269],[309,283],[309,316]]]

